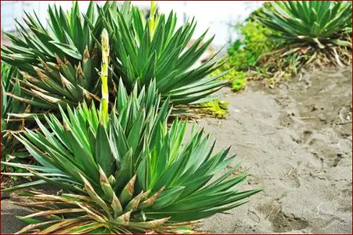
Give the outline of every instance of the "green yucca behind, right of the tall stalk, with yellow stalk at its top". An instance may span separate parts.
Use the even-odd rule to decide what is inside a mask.
[[[205,39],[206,32],[188,48],[196,22],[191,20],[177,29],[177,15],[173,11],[166,17],[156,14],[155,1],[151,1],[150,17],[136,6],[124,8],[98,8],[104,27],[112,41],[113,77],[120,77],[129,92],[137,83],[138,89],[148,86],[155,79],[162,99],[170,98],[173,105],[203,102],[219,90],[228,79],[226,74],[210,74],[218,68],[219,60],[210,58],[199,67],[193,65],[207,50],[212,39]],[[210,98],[209,99],[214,99]]]

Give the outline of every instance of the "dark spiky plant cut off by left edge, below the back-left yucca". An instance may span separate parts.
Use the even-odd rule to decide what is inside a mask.
[[[9,119],[11,113],[26,112],[26,105],[13,98],[13,95],[21,94],[20,84],[15,80],[16,76],[16,69],[1,62],[1,161],[29,155],[13,136],[13,132],[23,130],[23,121]],[[4,170],[3,164],[1,170]]]

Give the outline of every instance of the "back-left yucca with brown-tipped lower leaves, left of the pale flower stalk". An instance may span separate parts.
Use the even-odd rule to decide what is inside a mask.
[[[94,27],[91,30],[88,26],[97,21],[94,3],[89,4],[85,20],[77,2],[66,13],[61,7],[49,6],[49,28],[41,24],[35,12],[25,15],[26,27],[16,20],[23,39],[6,33],[12,43],[1,48],[1,60],[23,74],[23,93],[32,98],[24,101],[58,109],[58,105],[76,107],[83,100],[98,100],[96,68],[101,58],[92,36]],[[99,24],[97,27],[101,30]]]

